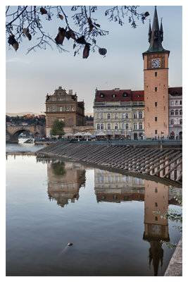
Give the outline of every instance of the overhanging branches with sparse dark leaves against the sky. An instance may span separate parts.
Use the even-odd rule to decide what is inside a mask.
[[[149,16],[148,12],[138,12],[139,6],[108,6],[104,16],[110,21],[115,21],[119,25],[124,24],[127,16],[130,25],[137,27],[137,20],[142,23]],[[67,10],[70,10],[67,12]],[[15,51],[23,39],[27,38],[32,42],[33,37],[37,37],[37,44],[32,44],[28,52],[37,47],[46,49],[47,46],[56,45],[59,51],[67,51],[65,39],[73,41],[74,56],[82,50],[82,58],[87,59],[89,51],[98,48],[99,54],[106,55],[106,48],[96,44],[97,37],[109,34],[104,30],[98,20],[94,18],[100,6],[6,6],[6,35],[8,44]],[[60,20],[56,35],[49,35],[44,28],[44,19],[48,21],[58,18]]]

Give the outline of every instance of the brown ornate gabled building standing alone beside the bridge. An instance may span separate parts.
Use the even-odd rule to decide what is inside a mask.
[[[51,125],[56,119],[65,122],[65,133],[73,126],[84,125],[84,102],[77,101],[77,94],[73,90],[67,93],[58,87],[54,94],[46,95],[46,136],[50,135]]]

